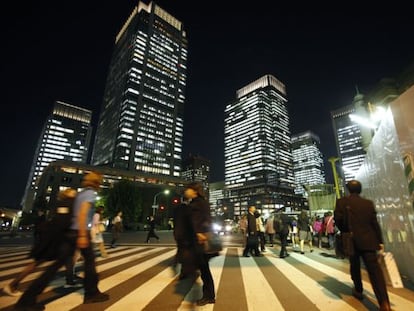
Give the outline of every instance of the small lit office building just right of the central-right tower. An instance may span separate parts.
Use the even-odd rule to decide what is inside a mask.
[[[310,132],[292,135],[295,193],[304,195],[305,185],[325,184],[323,156],[319,137]]]

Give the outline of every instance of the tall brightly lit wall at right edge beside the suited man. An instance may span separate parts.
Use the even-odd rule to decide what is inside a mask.
[[[402,275],[414,280],[414,87],[390,104],[356,178],[374,201],[385,250]]]

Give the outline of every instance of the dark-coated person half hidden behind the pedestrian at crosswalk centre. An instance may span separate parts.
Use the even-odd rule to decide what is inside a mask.
[[[196,239],[191,222],[189,202],[185,199],[174,210],[173,235],[177,245],[174,268],[181,264],[179,279],[196,275]]]

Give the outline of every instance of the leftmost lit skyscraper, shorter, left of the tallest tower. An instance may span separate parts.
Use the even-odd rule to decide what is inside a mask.
[[[86,163],[91,139],[92,111],[56,101],[43,127],[30,169],[22,206],[30,210],[37,182],[50,162]]]

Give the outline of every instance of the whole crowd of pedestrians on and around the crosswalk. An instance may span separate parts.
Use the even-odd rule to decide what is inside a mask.
[[[59,193],[57,207],[49,220],[46,220],[43,211],[38,211],[34,245],[30,252],[32,262],[3,288],[4,293],[19,296],[14,310],[44,310],[44,305],[37,302],[37,296],[62,266],[66,268],[65,287],[84,287],[84,304],[109,299],[109,295],[98,288],[99,277],[95,266],[95,248],[99,250],[100,256],[108,257],[102,234],[106,230],[104,207],[95,207],[96,193],[101,182],[101,175],[93,172],[86,174],[81,191],[66,189]],[[280,242],[280,258],[289,256],[289,243],[290,249],[303,255],[312,253],[315,247],[334,249],[337,231],[352,231],[355,244],[355,254],[349,257],[350,274],[354,283],[352,295],[360,300],[364,298],[360,271],[362,259],[380,310],[391,310],[384,275],[378,263],[378,251],[384,249],[382,233],[372,201],[360,197],[361,188],[358,181],[348,182],[349,196],[337,200],[335,214],[326,212],[311,217],[309,211],[303,210],[298,215],[275,213],[265,218],[255,206],[249,206],[239,221],[239,231],[243,235],[243,257],[264,256],[266,247],[274,247],[276,244],[275,237]],[[346,218],[345,215],[349,216]],[[214,304],[215,286],[209,261],[219,253],[212,254],[205,250],[212,232],[212,218],[201,183],[185,186],[182,202],[174,212],[173,224],[177,245],[173,266],[181,266],[178,280],[192,278],[195,281],[200,276],[202,297],[195,303],[198,306]],[[122,228],[122,212],[118,212],[112,221],[111,247],[117,246]],[[151,238],[159,240],[153,216],[150,217],[146,242],[149,243]],[[80,256],[83,258],[83,278],[77,277],[74,269]],[[51,264],[21,292],[20,282],[45,261],[51,261]]]

